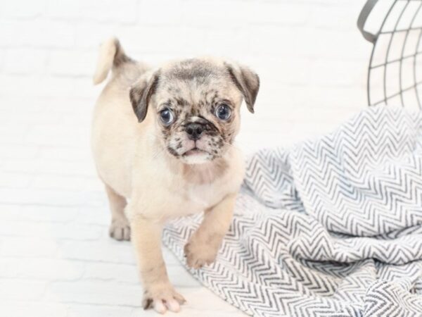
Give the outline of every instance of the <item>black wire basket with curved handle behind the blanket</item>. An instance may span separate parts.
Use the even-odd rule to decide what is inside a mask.
[[[370,25],[375,31],[366,30]],[[369,0],[357,27],[373,44],[368,104],[422,109],[422,0]]]

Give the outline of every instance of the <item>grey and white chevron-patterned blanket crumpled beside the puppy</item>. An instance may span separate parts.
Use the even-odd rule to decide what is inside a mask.
[[[372,107],[248,159],[217,261],[191,273],[251,316],[422,316],[422,116]],[[200,215],[167,225],[183,248]]]

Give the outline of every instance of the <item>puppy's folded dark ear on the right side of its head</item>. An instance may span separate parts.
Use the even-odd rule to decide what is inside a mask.
[[[243,94],[246,106],[251,113],[254,113],[253,106],[260,90],[260,77],[250,68],[226,63],[231,80]]]

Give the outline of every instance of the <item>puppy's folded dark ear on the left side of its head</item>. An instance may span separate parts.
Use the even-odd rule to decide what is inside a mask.
[[[159,77],[158,72],[153,73],[150,78],[141,76],[129,91],[130,102],[139,122],[142,122],[146,117],[148,104],[155,89],[157,89]]]

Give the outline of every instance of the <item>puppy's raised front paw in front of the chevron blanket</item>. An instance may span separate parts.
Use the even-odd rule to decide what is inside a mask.
[[[190,268],[202,268],[205,264],[214,262],[218,249],[218,246],[201,243],[198,238],[193,236],[184,246],[186,262]]]

